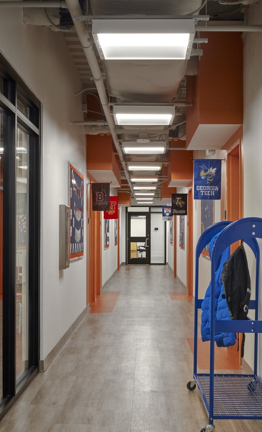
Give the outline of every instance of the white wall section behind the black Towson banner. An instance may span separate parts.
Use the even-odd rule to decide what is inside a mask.
[[[178,194],[187,194],[187,187],[178,187]],[[187,276],[187,221],[188,217],[185,216],[185,248],[179,248],[179,216],[176,217],[176,274],[181,280],[181,282],[186,286],[186,276]]]

